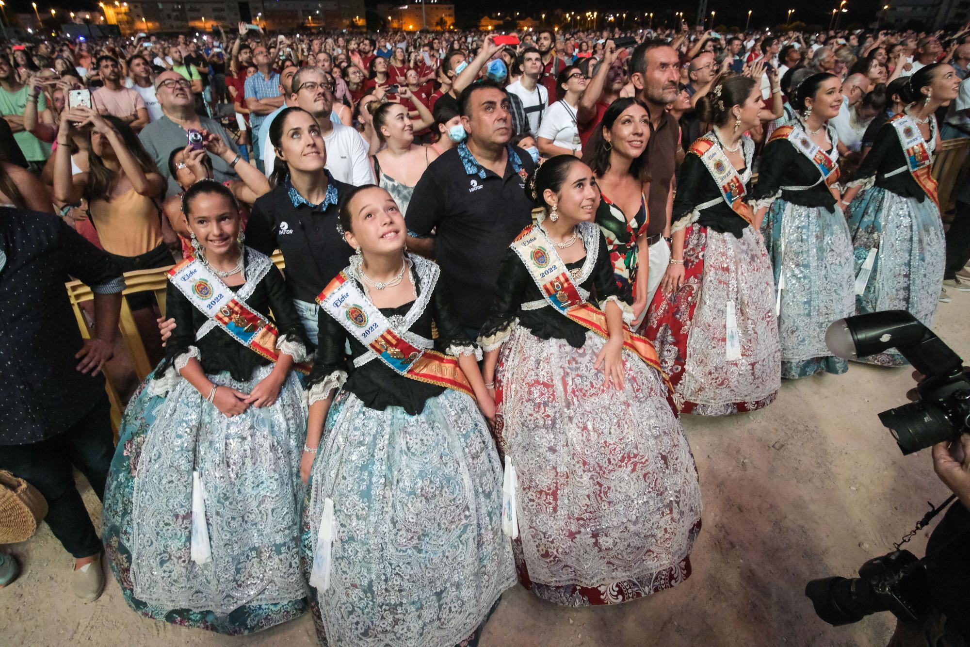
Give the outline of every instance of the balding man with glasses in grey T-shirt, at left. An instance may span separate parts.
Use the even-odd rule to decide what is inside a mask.
[[[169,154],[174,148],[184,147],[188,143],[188,131],[192,129],[208,130],[221,137],[222,141],[233,149],[235,159],[228,163],[221,157],[207,153],[212,161],[215,179],[220,182],[239,179],[233,170],[240,159],[239,148],[219,122],[195,112],[191,83],[183,79],[178,72],[167,70],[155,79],[155,95],[158,97],[163,115],[143,128],[138,139],[141,140],[148,154],[154,158],[159,172],[168,181],[166,194],[176,195],[179,191],[178,182],[169,172]]]

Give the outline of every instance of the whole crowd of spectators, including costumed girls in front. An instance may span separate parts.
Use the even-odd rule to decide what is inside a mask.
[[[445,647],[516,582],[642,598],[691,574],[682,414],[848,371],[838,319],[930,326],[970,292],[970,185],[945,233],[931,175],[970,138],[970,29],[496,40],[3,48],[0,469],[49,501],[81,599],[105,555],[156,620]],[[165,317],[125,297],[155,369],[115,449],[123,273],[162,268]]]

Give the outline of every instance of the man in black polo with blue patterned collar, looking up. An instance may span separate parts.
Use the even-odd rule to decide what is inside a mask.
[[[461,146],[439,156],[424,172],[407,207],[407,244],[434,256],[462,325],[476,339],[499,279],[508,244],[532,222],[526,196],[533,172],[529,153],[509,146],[508,97],[492,81],[466,88],[458,99],[469,134]]]

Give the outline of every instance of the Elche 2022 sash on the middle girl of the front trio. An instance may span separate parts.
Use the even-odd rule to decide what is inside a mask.
[[[437,275],[434,273],[431,281],[423,286],[426,292],[435,288]],[[404,339],[346,271],[327,284],[316,303],[392,371],[474,397],[457,358]]]

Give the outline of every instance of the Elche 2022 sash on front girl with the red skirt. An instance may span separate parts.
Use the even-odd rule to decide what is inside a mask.
[[[510,246],[522,259],[539,292],[553,308],[580,326],[592,330],[599,337],[609,339],[606,315],[598,307],[586,303],[579,293],[579,288],[572,282],[566,263],[560,258],[556,247],[549,242],[540,227],[529,225]],[[631,333],[626,325],[623,327],[623,346],[661,371],[654,345],[645,337]],[[663,375],[663,371],[661,374]],[[666,381],[665,375],[663,379]]]

